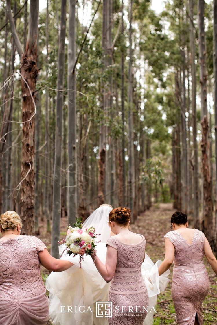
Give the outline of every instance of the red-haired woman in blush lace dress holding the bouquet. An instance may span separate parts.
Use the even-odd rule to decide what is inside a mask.
[[[141,271],[145,239],[129,230],[130,214],[129,209],[120,207],[109,214],[109,226],[115,236],[107,241],[105,265],[98,256],[91,256],[103,279],[112,280],[108,298],[112,302],[109,325],[142,325],[149,311]]]

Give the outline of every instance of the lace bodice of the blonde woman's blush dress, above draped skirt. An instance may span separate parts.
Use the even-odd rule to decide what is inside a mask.
[[[45,292],[38,258],[44,248],[34,236],[0,240],[0,298],[22,299]]]

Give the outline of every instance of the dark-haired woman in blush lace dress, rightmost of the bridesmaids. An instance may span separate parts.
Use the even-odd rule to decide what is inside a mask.
[[[217,260],[204,234],[188,227],[187,215],[176,211],[171,217],[173,231],[165,237],[165,259],[159,275],[174,263],[172,299],[177,323],[203,324],[202,302],[209,291],[209,278],[203,263],[203,253],[217,274]]]

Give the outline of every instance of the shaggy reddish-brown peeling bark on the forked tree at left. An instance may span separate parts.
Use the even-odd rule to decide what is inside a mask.
[[[28,46],[28,40],[27,40]],[[25,80],[28,80],[31,93],[35,91],[38,75],[37,47],[34,56],[28,55],[27,51],[22,60],[20,72]],[[21,165],[21,188],[20,188],[20,217],[22,218],[22,233],[31,235],[34,231],[34,102],[29,88],[21,78],[22,88],[22,165]],[[28,121],[28,122],[27,122]]]

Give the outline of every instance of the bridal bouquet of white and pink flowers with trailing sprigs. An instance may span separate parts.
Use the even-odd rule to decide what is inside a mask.
[[[95,256],[95,238],[97,238],[97,235],[100,234],[95,234],[94,227],[83,228],[81,217],[76,218],[76,223],[74,224],[74,227],[68,227],[66,238],[58,241],[58,243],[66,244],[66,248],[63,250],[62,254],[66,251],[69,256],[71,254],[74,254],[73,257],[75,257],[75,255],[77,255],[78,253],[85,253],[86,255],[93,254]],[[80,267],[81,260],[84,260],[83,255],[80,255],[79,258]]]

